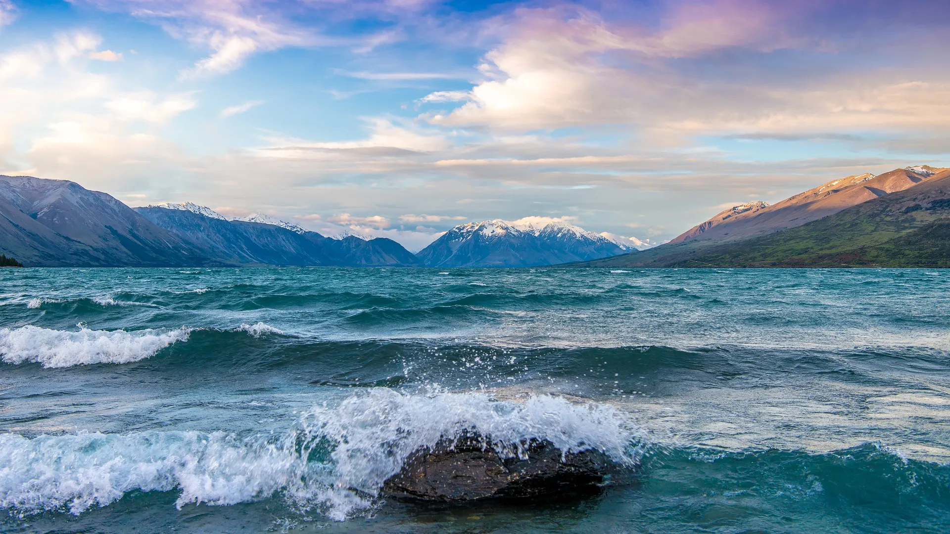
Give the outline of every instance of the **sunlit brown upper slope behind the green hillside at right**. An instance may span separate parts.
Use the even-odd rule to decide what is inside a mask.
[[[880,176],[866,173],[829,181],[772,205],[753,202],[730,208],[693,226],[670,242],[725,242],[765,236],[822,219],[867,200],[902,191],[921,181],[946,176],[947,172],[950,169],[924,165],[913,170],[895,169]]]

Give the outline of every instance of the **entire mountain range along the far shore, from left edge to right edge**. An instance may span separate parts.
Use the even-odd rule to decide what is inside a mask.
[[[928,165],[738,204],[653,248],[525,218],[460,224],[416,255],[389,238],[327,238],[266,214],[130,208],[72,181],[0,176],[0,255],[27,266],[937,267],[950,266],[948,237],[950,169]]]

